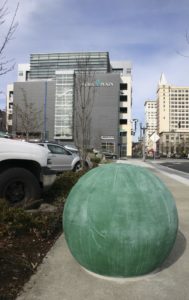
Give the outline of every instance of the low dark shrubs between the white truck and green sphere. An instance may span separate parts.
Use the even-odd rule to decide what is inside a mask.
[[[44,193],[44,202],[57,206],[55,212],[30,213],[24,208],[10,206],[7,201],[0,199],[0,237],[29,234],[31,231],[41,237],[48,237],[55,232],[61,232],[65,199],[84,173],[65,172],[59,175],[51,189]]]

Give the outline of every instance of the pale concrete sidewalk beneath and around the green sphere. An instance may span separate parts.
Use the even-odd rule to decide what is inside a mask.
[[[62,235],[17,300],[189,299],[189,186],[145,162],[128,160],[125,163],[149,168],[162,179],[176,200],[179,232],[161,270],[147,276],[117,281],[94,277],[74,260]]]

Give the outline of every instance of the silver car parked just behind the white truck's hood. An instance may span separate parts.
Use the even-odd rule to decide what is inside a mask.
[[[72,153],[64,146],[56,143],[38,143],[49,150],[49,158],[51,159],[50,168],[61,173],[63,171],[78,171],[81,169],[80,157]]]

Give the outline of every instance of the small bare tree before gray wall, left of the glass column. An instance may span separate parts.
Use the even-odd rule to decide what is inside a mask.
[[[22,90],[23,98],[20,104],[14,104],[14,120],[16,131],[22,132],[28,141],[29,135],[39,133],[39,128],[43,121],[42,110],[38,110],[33,102],[27,100],[24,89]]]

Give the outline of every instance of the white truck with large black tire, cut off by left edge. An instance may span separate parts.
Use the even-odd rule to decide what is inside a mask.
[[[38,145],[0,139],[0,198],[14,205],[40,199],[56,179],[48,151]]]

